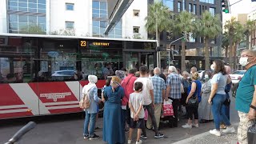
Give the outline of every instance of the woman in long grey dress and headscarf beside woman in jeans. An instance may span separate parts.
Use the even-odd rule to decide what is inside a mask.
[[[208,99],[210,97],[211,90],[211,80],[212,74],[210,71],[206,71],[204,76],[205,82],[202,84],[202,100],[198,106],[198,115],[200,119],[200,123],[210,122],[214,119],[213,114],[211,112],[211,105],[208,103]]]

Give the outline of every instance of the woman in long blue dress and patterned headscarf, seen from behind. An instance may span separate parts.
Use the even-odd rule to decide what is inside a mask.
[[[103,114],[103,141],[109,144],[125,143],[121,100],[124,97],[121,79],[112,77],[110,86],[104,90],[106,99]]]

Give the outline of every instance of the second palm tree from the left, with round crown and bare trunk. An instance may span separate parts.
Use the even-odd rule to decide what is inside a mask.
[[[189,34],[194,31],[194,16],[187,12],[182,11],[174,18],[174,32],[177,34]],[[186,48],[185,48],[186,38],[182,40],[182,71],[186,70],[185,60],[186,60]]]

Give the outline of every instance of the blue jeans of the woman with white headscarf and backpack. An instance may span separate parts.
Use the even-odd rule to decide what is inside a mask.
[[[83,135],[86,136],[89,134],[89,136],[94,136],[94,128],[95,128],[97,113],[88,114],[87,110],[85,112],[86,112],[86,119],[85,119]],[[90,122],[90,131],[88,132],[89,122]]]

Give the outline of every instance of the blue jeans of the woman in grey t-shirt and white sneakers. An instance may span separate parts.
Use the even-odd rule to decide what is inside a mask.
[[[230,126],[230,120],[226,117],[223,102],[226,100],[226,94],[215,94],[212,100],[212,111],[214,114],[214,125],[216,130],[220,130],[220,123]]]

